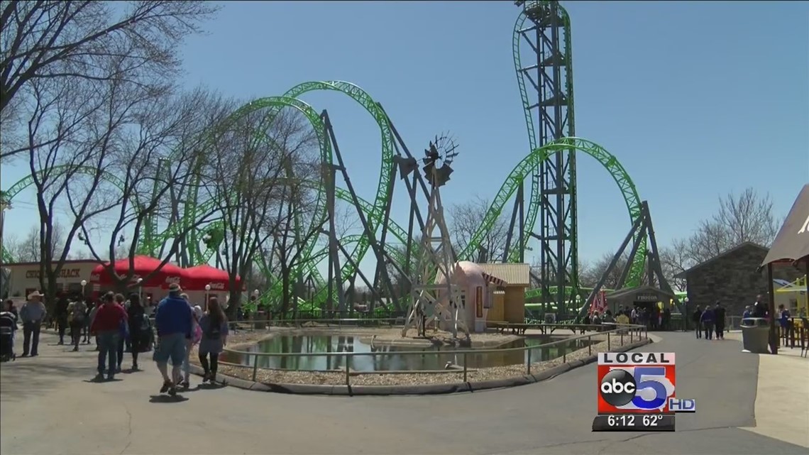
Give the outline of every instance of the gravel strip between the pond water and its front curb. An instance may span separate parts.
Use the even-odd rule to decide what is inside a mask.
[[[266,334],[265,334],[266,338]],[[621,344],[620,337],[613,337],[611,347],[629,344],[629,337],[625,336]],[[637,340],[633,340],[637,341]],[[607,342],[599,342],[591,347],[574,351],[566,356],[567,361],[587,358],[591,354],[606,352]],[[194,356],[196,357],[196,356]],[[193,357],[193,358],[194,358]],[[531,365],[531,372],[556,367],[563,364],[562,359],[553,359],[537,362]],[[252,368],[248,366],[220,364],[219,372],[252,381]],[[506,377],[523,376],[527,373],[526,365],[506,365],[502,367],[480,368],[467,372],[467,381],[480,382]],[[418,373],[357,373],[350,376],[352,385],[417,385],[417,384],[456,384],[464,382],[463,372],[418,372]],[[345,385],[345,372],[298,372],[287,370],[259,369],[256,382],[264,384],[313,384],[313,385]]]

